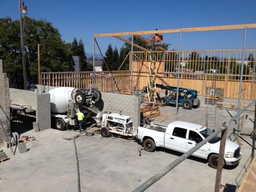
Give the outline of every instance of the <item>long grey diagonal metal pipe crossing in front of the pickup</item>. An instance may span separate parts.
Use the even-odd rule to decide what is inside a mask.
[[[256,99],[250,102],[243,110],[238,112],[234,117],[232,117],[230,120],[226,122],[225,127],[221,127],[219,129],[216,129],[214,133],[212,133],[210,136],[208,136],[206,139],[201,141],[200,143],[196,144],[193,148],[191,148],[189,151],[184,153],[182,156],[177,158],[175,161],[173,161],[171,164],[169,164],[167,167],[162,169],[159,173],[155,174],[150,179],[146,180],[144,183],[142,183],[139,187],[137,187],[133,192],[144,192],[147,188],[149,188],[151,185],[153,185],[156,181],[160,180],[164,175],[166,175],[169,171],[171,171],[173,168],[175,168],[177,165],[179,165],[183,160],[185,160],[187,157],[191,156],[195,151],[197,151],[200,147],[202,147],[204,144],[209,142],[213,137],[218,135],[220,132],[222,132],[224,129],[227,129],[227,126],[232,123],[233,120],[237,119],[238,116],[240,116],[247,108],[252,106],[256,102]]]

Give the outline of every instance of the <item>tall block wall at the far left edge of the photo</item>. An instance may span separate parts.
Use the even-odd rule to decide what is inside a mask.
[[[10,93],[9,93],[9,78],[6,73],[3,73],[3,62],[0,60],[0,119],[7,135],[11,136],[10,121],[6,117],[10,117]],[[6,114],[6,115],[5,115]],[[4,131],[0,128],[0,139],[5,138]]]

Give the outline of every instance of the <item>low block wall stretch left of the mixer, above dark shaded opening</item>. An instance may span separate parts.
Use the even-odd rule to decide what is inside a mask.
[[[37,93],[33,91],[10,88],[10,100],[12,104],[27,105],[36,108]]]

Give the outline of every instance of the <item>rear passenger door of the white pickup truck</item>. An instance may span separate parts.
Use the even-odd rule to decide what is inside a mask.
[[[186,152],[187,129],[175,127],[173,132],[165,134],[165,147],[182,153]]]

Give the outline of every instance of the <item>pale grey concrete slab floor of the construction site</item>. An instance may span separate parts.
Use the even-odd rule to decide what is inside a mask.
[[[172,115],[174,107],[160,108],[161,117],[168,124],[173,120],[185,120],[204,124],[206,108],[184,110],[180,108],[179,116]],[[228,120],[230,115],[225,110],[217,110],[217,124]],[[235,112],[233,112],[235,113]],[[253,118],[254,114],[249,114]],[[251,127],[252,122],[246,120]],[[252,127],[251,127],[252,128]],[[232,130],[229,129],[229,133]],[[12,156],[10,149],[5,151],[11,160],[0,164],[0,191],[16,192],[75,192],[77,191],[77,171],[73,141],[63,138],[72,137],[78,132],[49,129],[42,132],[25,132],[24,135],[35,136],[36,141],[27,143],[30,149],[24,154]],[[246,138],[251,141],[250,138]],[[182,154],[158,148],[154,153],[142,151],[135,140],[102,138],[100,135],[76,139],[78,151],[82,192],[130,192],[145,180],[165,168]],[[2,149],[2,148],[1,148]],[[225,192],[233,192],[236,178],[243,169],[251,148],[243,142],[243,157],[237,167],[224,167],[223,185]],[[210,168],[203,159],[190,157],[171,170],[161,180],[152,185],[147,192],[212,192],[214,191],[216,170]],[[221,189],[223,191],[223,188]]]

